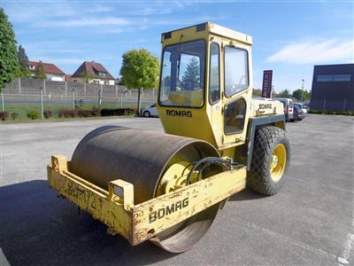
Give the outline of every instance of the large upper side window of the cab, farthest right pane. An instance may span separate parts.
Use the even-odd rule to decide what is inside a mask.
[[[225,95],[230,97],[249,87],[247,51],[225,47]]]

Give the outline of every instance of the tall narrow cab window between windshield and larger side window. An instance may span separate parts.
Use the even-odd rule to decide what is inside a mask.
[[[219,44],[211,43],[210,50],[209,102],[212,105],[220,99]]]

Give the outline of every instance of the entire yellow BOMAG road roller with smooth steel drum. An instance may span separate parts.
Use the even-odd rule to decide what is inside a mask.
[[[50,187],[131,245],[181,253],[231,195],[273,195],[290,161],[283,106],[253,99],[250,35],[206,22],[161,36],[158,114],[165,133],[104,126],[68,161],[51,157]]]

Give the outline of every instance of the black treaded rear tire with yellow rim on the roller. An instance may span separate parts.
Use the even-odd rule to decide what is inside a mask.
[[[283,129],[257,129],[247,185],[255,192],[271,196],[280,192],[290,161],[290,143]]]

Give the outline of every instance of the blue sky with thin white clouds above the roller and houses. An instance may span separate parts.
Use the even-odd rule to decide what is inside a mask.
[[[160,56],[160,34],[205,21],[253,37],[255,88],[273,69],[276,91],[311,90],[313,65],[353,63],[353,1],[14,1],[0,0],[32,60],[66,74],[84,60],[119,76],[121,55]]]

